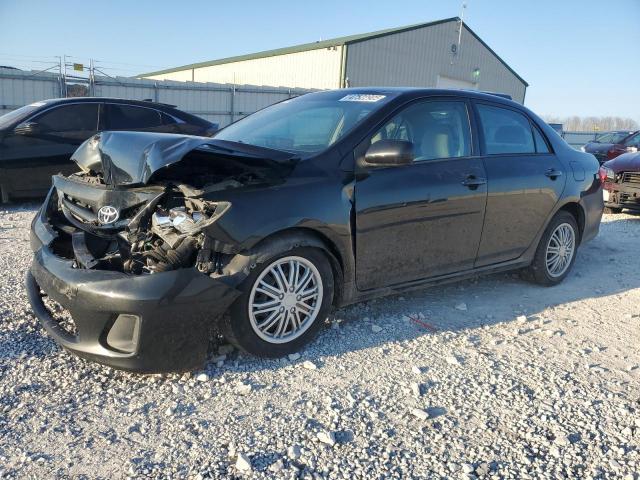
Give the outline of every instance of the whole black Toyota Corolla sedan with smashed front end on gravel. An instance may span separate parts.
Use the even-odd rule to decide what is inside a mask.
[[[313,93],[73,158],[32,224],[29,299],[66,349],[141,372],[197,367],[214,327],[278,357],[332,307],[511,269],[555,285],[603,210],[592,155],[466,91]]]

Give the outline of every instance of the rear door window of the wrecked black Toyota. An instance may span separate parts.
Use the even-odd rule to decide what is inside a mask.
[[[486,153],[535,153],[529,119],[523,114],[501,107],[478,104]]]

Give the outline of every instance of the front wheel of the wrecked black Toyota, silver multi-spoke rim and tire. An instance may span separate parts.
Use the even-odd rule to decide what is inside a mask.
[[[288,283],[291,265],[298,275],[293,292]],[[307,272],[310,279],[305,285]],[[301,300],[299,293],[311,292],[314,286],[316,296],[311,293]],[[296,247],[261,258],[239,289],[242,294],[220,321],[223,336],[247,353],[278,358],[298,351],[316,336],[333,303],[334,277],[322,250]]]

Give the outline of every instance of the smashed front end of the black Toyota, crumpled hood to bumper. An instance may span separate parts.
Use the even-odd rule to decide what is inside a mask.
[[[223,266],[237,253],[222,193],[273,181],[285,163],[209,138],[104,132],[53,177],[32,224],[32,307],[54,339],[118,368],[202,363],[208,332],[240,294]],[[69,313],[64,329],[43,301]]]

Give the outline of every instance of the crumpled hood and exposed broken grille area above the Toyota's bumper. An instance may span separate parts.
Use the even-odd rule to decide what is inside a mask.
[[[75,268],[136,275],[183,267],[220,271],[225,256],[235,253],[216,226],[231,203],[205,198],[272,182],[281,164],[198,137],[163,136],[159,152],[162,142],[151,135],[151,154],[144,145],[113,151],[127,145],[127,133],[88,140],[74,155],[83,171],[53,177],[46,208],[54,253],[74,260]]]

